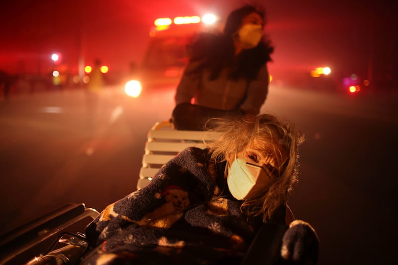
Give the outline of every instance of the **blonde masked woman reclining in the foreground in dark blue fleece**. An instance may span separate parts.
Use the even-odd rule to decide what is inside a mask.
[[[217,141],[182,151],[87,227],[84,264],[240,264],[261,226],[286,223],[302,135],[267,114],[217,120]],[[313,228],[286,225],[278,262],[316,264]]]

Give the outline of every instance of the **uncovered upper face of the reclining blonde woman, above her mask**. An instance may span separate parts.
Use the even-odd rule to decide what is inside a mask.
[[[249,144],[244,150],[236,153],[236,158],[243,158],[247,162],[254,162],[261,165],[266,165],[269,170],[281,172],[284,161],[287,160],[288,154],[282,147],[274,151],[273,145],[268,145],[268,149],[260,149],[257,140]],[[235,154],[231,154],[229,163],[235,159]]]

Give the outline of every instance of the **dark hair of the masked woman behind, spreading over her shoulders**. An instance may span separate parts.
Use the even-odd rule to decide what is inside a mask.
[[[258,13],[266,23],[265,11],[263,8],[255,5],[244,5],[233,10],[225,23],[223,34],[214,35],[210,33],[201,33],[192,42],[189,49],[191,51],[191,60],[200,61],[200,66],[193,72],[200,72],[203,68],[210,71],[210,80],[218,78],[225,66],[232,66],[229,73],[232,80],[244,78],[248,81],[256,79],[260,68],[269,61],[272,61],[271,54],[274,47],[268,35],[263,36],[260,43],[252,49],[243,50],[235,58],[233,35],[239,29],[242,20],[248,14]]]

